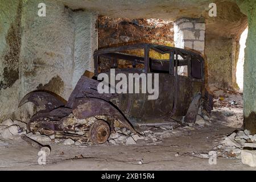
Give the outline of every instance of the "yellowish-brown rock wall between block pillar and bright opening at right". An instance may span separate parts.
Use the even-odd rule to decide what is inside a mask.
[[[205,17],[205,72],[207,85],[236,90],[239,39],[247,19],[234,2],[216,2],[217,16]]]

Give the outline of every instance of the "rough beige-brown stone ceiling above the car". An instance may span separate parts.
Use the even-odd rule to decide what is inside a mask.
[[[86,9],[112,18],[205,18],[207,34],[238,38],[247,26],[236,0],[59,0],[71,9]],[[217,17],[209,17],[209,3],[217,4]]]

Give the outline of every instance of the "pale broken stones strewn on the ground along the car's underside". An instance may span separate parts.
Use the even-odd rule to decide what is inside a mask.
[[[203,122],[200,116],[197,117],[197,121],[200,119],[200,123],[197,122],[196,126],[203,126],[207,121]],[[106,145],[133,145],[133,144],[146,144],[146,145],[156,145],[162,143],[164,138],[170,137],[172,135],[177,135],[178,133],[182,134],[182,131],[185,130],[195,130],[194,127],[185,126],[180,127],[181,123],[170,123],[170,125],[162,126],[147,126],[139,134],[133,134],[130,130],[126,128],[115,128],[115,133],[110,134],[108,142]],[[193,126],[193,125],[192,125]],[[177,129],[179,128],[179,129]],[[55,135],[47,136],[36,132],[35,134],[30,133],[27,130],[26,123],[21,121],[13,121],[7,119],[5,122],[0,125],[0,137],[5,139],[13,139],[14,137],[20,137],[20,135],[25,134],[27,137],[42,143],[55,142],[56,144],[63,144],[64,146],[73,145],[76,146],[91,146],[93,143],[90,141],[84,142],[80,139],[73,140],[72,138],[55,138]]]

